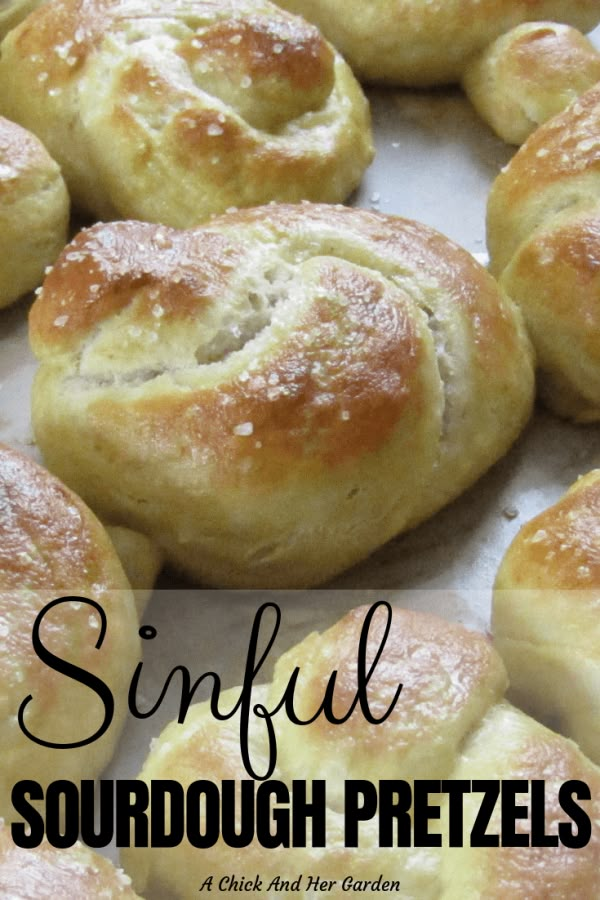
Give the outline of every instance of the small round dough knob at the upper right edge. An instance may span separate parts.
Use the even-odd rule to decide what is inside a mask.
[[[503,34],[467,65],[471,103],[509,144],[522,144],[600,81],[600,53],[576,28],[529,22]]]

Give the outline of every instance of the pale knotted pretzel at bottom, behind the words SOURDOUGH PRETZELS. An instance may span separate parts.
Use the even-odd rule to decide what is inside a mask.
[[[253,702],[272,710],[281,700],[291,673],[299,669],[294,688],[294,712],[301,719],[313,716],[323,700],[325,688],[336,671],[332,710],[342,718],[350,709],[357,686],[357,646],[366,609],[354,610],[322,634],[311,634],[285,653],[275,667],[270,685],[253,694]],[[381,647],[387,619],[377,610],[368,629],[367,665]],[[415,781],[471,779],[511,781],[544,779],[547,833],[556,833],[564,818],[556,796],[565,780],[578,779],[589,785],[592,802],[587,813],[597,817],[600,771],[577,747],[519,712],[503,699],[507,680],[500,657],[482,634],[423,613],[393,609],[383,652],[368,686],[371,713],[381,718],[393,701],[398,684],[403,685],[396,706],[385,721],[372,724],[356,706],[342,724],[321,715],[310,725],[295,725],[285,710],[272,724],[277,737],[277,767],[271,776],[283,781],[290,793],[296,784],[326,781],[325,846],[311,846],[310,823],[307,846],[261,846],[255,838],[248,846],[234,848],[220,835],[214,846],[203,849],[184,838],[171,849],[132,848],[123,851],[123,861],[138,891],[149,897],[169,896],[187,900],[197,896],[207,876],[213,890],[223,882],[225,896],[236,896],[227,876],[248,882],[259,873],[266,893],[276,876],[298,889],[280,891],[283,897],[313,897],[308,877],[318,874],[331,882],[327,896],[347,896],[344,878],[351,875],[363,886],[381,876],[400,882],[395,896],[411,900],[464,900],[465,897],[523,898],[559,896],[592,897],[596,891],[600,862],[597,830],[583,849],[567,847],[477,847],[470,846],[470,833],[481,803],[481,794],[465,794],[464,820],[459,826],[464,846],[449,846],[448,797],[435,795],[441,806],[439,821],[430,820],[430,832],[441,834],[441,847],[406,846],[403,837],[385,846],[386,803],[380,798],[378,813],[360,823],[358,847],[345,846],[344,823],[349,805],[343,797],[344,781],[371,783],[383,792],[402,779]],[[221,698],[221,712],[229,712],[239,689]],[[252,723],[251,753],[263,765],[264,723]],[[263,769],[261,768],[261,772]],[[209,703],[190,709],[183,724],[172,723],[153,743],[140,778],[148,784],[173,779],[187,789],[193,782],[212,781],[219,790],[225,780],[248,779],[240,755],[239,716],[219,722]],[[313,794],[314,796],[314,794]],[[524,799],[524,798],[522,798]],[[240,831],[240,794],[237,794],[237,831]],[[415,800],[416,803],[416,800]],[[317,802],[318,805],[318,802]],[[418,805],[418,804],[416,804]],[[410,807],[410,801],[408,803]],[[188,807],[190,820],[193,809]],[[279,809],[279,814],[285,811]],[[379,818],[381,811],[382,819]],[[214,822],[214,805],[210,816]],[[268,816],[268,813],[264,813]],[[252,813],[246,812],[248,824]],[[223,834],[233,830],[229,804],[224,804],[220,824]],[[495,813],[489,833],[498,833],[500,814]],[[207,833],[201,814],[200,832]],[[281,821],[281,819],[279,820]],[[380,821],[383,823],[380,830]],[[413,823],[415,819],[413,818]],[[263,821],[264,825],[264,821]],[[521,822],[517,829],[528,833]],[[394,829],[392,828],[392,831]],[[247,833],[247,829],[246,829]],[[456,833],[454,835],[456,842]],[[347,842],[349,844],[349,842]],[[506,842],[508,843],[508,842]],[[228,888],[231,886],[231,889]],[[323,888],[322,888],[323,890]],[[360,887],[354,888],[354,892]],[[368,893],[368,887],[362,890]],[[350,890],[350,893],[353,893]],[[258,892],[254,896],[259,896]]]

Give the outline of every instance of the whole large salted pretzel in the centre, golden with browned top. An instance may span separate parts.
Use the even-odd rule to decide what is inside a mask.
[[[531,408],[464,250],[349,208],[82,232],[30,318],[45,459],[194,579],[322,582],[471,484]]]

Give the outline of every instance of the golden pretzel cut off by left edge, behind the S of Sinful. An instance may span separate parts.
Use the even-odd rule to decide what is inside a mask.
[[[51,667],[35,650],[34,622],[52,600],[82,601],[45,613],[40,640],[62,660],[95,674],[115,700],[112,724],[98,740],[73,749],[50,743],[83,741],[105,719],[102,698],[83,682]],[[95,778],[110,759],[126,710],[127,686],[139,660],[133,595],[104,529],[84,504],[27,457],[0,447],[0,814],[14,816],[10,795],[17,781],[42,785],[57,778]]]

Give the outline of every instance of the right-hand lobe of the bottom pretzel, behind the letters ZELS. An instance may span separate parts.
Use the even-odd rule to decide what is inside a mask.
[[[466,897],[595,900],[598,897],[600,840],[595,817],[600,806],[600,772],[575,744],[510,704],[500,703],[490,710],[466,742],[452,777],[457,781],[541,781],[547,835],[556,835],[560,823],[568,822],[558,802],[561,785],[567,780],[581,781],[587,785],[592,797],[591,803],[582,803],[592,817],[592,837],[583,849],[566,845],[510,846],[510,836],[507,846],[492,848],[469,847],[465,840],[465,846],[451,847],[444,852],[441,900],[465,900]],[[466,835],[480,811],[481,797],[480,793],[465,795]],[[511,799],[509,793],[509,809]],[[516,803],[523,804],[527,810],[529,797],[526,791],[516,794]],[[508,815],[512,817],[512,811]],[[487,829],[489,834],[500,833],[500,816],[497,804]],[[533,827],[533,822],[523,821],[518,822],[514,830],[517,835],[529,835]]]

